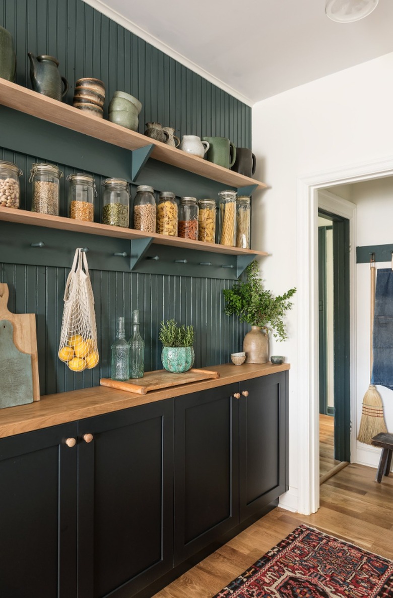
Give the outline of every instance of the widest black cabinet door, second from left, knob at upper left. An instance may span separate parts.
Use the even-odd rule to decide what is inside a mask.
[[[173,399],[81,420],[78,454],[78,598],[128,598],[173,566]]]

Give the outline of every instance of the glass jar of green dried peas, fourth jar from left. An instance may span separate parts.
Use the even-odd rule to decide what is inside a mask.
[[[105,179],[103,181],[102,222],[111,226],[128,228],[130,195],[125,179]]]

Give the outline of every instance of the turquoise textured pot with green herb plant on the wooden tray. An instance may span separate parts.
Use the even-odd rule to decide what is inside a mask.
[[[194,327],[161,322],[159,340],[162,343],[161,361],[165,370],[174,373],[188,371],[194,365]]]

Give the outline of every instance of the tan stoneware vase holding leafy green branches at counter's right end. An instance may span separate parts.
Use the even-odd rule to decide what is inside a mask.
[[[262,288],[256,260],[245,270],[245,282],[237,282],[232,289],[224,289],[225,313],[237,315],[241,322],[251,325],[243,341],[246,364],[266,364],[269,361],[269,330],[275,338],[285,340],[284,315],[291,309],[289,301],[296,289],[274,297]]]

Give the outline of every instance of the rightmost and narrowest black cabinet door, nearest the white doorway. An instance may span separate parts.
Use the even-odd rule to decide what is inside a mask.
[[[288,489],[287,374],[240,385],[240,521]]]

